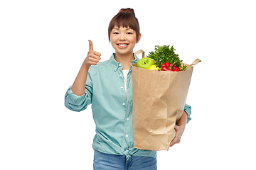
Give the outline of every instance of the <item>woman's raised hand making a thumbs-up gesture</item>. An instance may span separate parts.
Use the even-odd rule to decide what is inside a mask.
[[[100,62],[100,52],[95,52],[92,47],[92,41],[89,40],[89,52],[87,54],[87,57],[85,58],[84,64],[87,65],[87,67],[90,67],[91,65],[96,65],[98,62]]]

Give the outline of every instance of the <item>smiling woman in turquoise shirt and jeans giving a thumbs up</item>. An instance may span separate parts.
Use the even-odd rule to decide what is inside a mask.
[[[156,169],[156,151],[133,147],[132,62],[138,61],[133,49],[141,38],[134,10],[122,8],[110,21],[108,33],[115,53],[110,60],[100,62],[100,52],[93,50],[89,40],[90,50],[65,94],[65,106],[82,111],[92,104],[94,169]],[[183,113],[170,146],[180,141],[191,119],[191,106],[186,105]]]

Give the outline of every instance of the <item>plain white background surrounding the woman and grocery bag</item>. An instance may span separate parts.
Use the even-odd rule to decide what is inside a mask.
[[[108,60],[107,28],[134,8],[134,51],[174,45],[194,67],[181,143],[158,152],[158,169],[256,169],[254,1],[1,1],[0,169],[92,169],[90,107],[64,95],[92,40]]]

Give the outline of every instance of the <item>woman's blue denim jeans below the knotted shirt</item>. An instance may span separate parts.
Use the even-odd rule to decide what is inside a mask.
[[[104,154],[95,151],[94,170],[156,170],[156,158],[125,155]]]

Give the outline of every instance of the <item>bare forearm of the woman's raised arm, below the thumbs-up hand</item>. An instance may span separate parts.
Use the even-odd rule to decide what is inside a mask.
[[[80,71],[78,72],[78,76],[75,78],[75,81],[71,87],[73,94],[77,96],[82,96],[83,94],[85,94],[85,83],[87,79],[88,69],[89,67],[87,67],[83,63]]]

